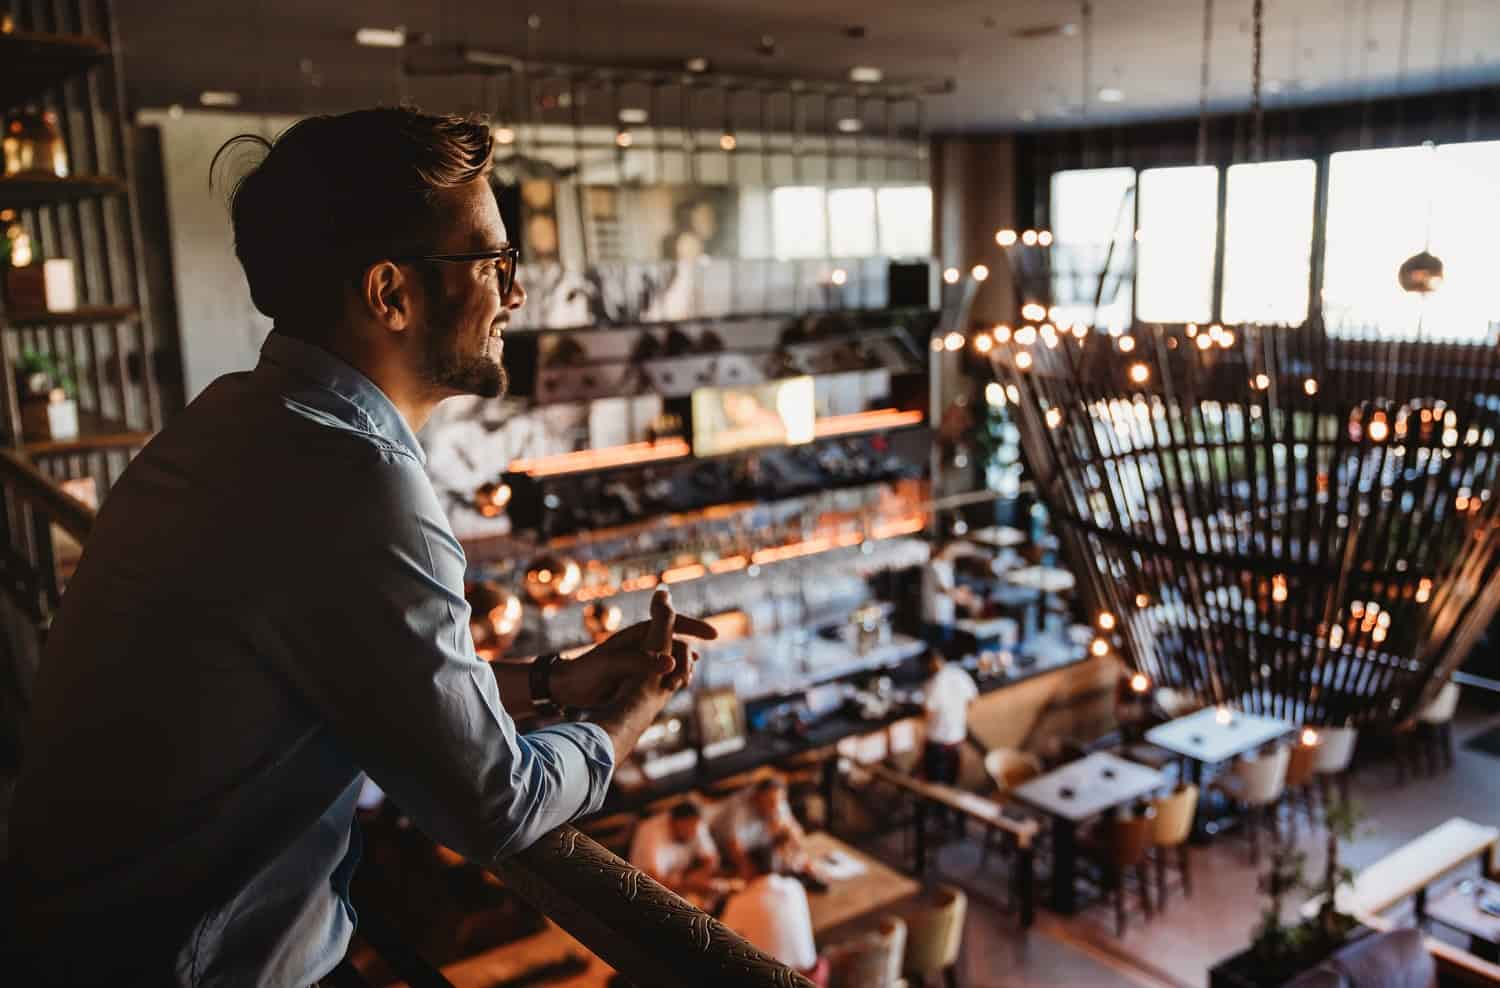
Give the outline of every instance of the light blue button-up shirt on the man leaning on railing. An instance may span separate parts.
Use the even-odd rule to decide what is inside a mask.
[[[10,852],[22,936],[64,945],[51,973],[322,978],[354,928],[366,772],[480,862],[597,810],[609,738],[516,733],[464,570],[417,438],[316,346],[272,333],[158,435],[99,514],[33,696]]]

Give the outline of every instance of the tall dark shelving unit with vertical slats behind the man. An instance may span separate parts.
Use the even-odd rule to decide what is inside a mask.
[[[0,177],[0,211],[39,258],[74,262],[78,307],[8,310],[0,298],[0,441],[50,480],[92,478],[102,495],[160,426],[114,12],[111,0],[44,0],[14,16],[14,33],[0,34],[0,114],[56,112],[70,174]],[[26,351],[69,372],[78,436],[22,436],[15,367]]]

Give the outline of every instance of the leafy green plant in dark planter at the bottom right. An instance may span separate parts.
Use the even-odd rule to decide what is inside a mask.
[[[1338,891],[1353,882],[1344,867],[1341,844],[1354,838],[1360,813],[1352,802],[1332,802],[1326,813],[1328,858],[1316,883],[1305,883],[1306,856],[1290,846],[1278,846],[1270,868],[1260,877],[1260,891],[1270,900],[1248,949],[1220,961],[1209,972],[1210,988],[1276,988],[1322,964],[1350,940],[1366,933],[1353,916],[1338,912]],[[1298,891],[1318,897],[1318,915],[1286,925],[1286,898]]]

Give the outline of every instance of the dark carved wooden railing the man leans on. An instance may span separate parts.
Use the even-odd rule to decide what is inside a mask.
[[[8,540],[4,589],[10,597],[4,610],[8,621],[28,622],[8,631],[12,637],[28,636],[39,646],[63,591],[52,529],[57,526],[82,544],[94,511],[6,450],[0,450],[0,498]],[[34,655],[32,663],[34,670]],[[18,697],[30,693],[28,682],[22,682],[30,672],[20,664],[12,670]],[[812,988],[810,981],[572,826],[548,834],[494,871],[507,888],[638,985]],[[406,961],[402,967],[410,970],[416,955],[400,952]],[[436,972],[423,981],[444,984]]]

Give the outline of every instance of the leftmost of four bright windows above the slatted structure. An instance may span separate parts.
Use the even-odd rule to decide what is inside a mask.
[[[1052,177],[1052,292],[1062,322],[1130,327],[1134,229],[1134,168]]]

